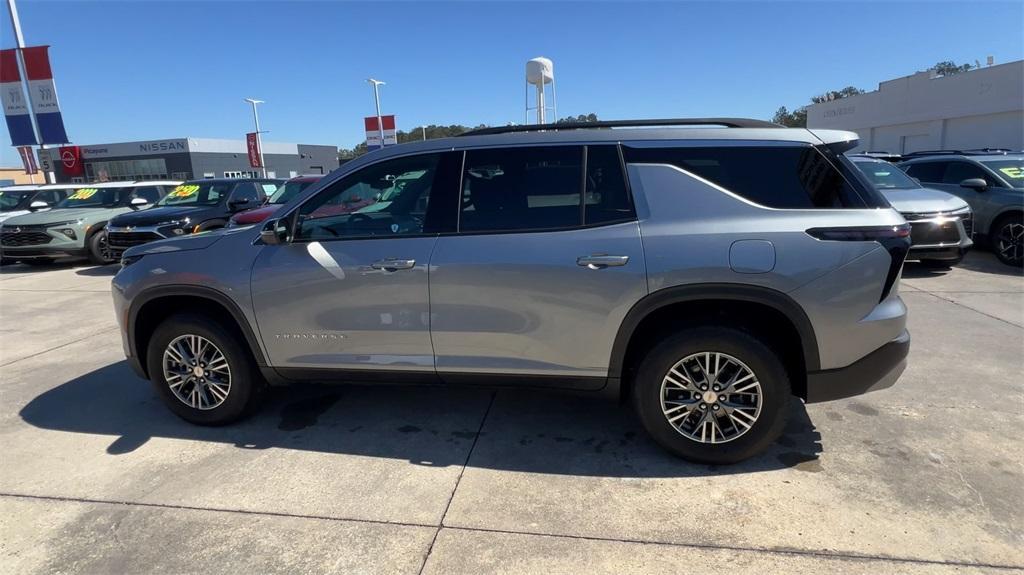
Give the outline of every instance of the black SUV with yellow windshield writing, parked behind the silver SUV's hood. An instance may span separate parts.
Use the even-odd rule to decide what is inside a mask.
[[[217,229],[231,214],[256,208],[284,180],[209,179],[184,182],[156,207],[123,214],[106,224],[108,246],[115,257],[132,246]]]

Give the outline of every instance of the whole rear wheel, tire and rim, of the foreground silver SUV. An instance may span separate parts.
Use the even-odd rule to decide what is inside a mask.
[[[778,356],[731,327],[694,327],[642,360],[633,400],[644,428],[672,453],[732,463],[771,445],[785,426],[790,380]]]

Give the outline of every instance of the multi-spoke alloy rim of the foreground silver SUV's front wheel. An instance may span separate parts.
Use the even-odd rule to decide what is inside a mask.
[[[186,334],[164,350],[164,381],[178,401],[201,411],[219,407],[231,392],[227,357],[210,340]]]

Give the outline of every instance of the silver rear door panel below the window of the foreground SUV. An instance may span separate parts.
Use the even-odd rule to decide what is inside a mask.
[[[577,261],[591,256],[626,261]],[[442,236],[430,268],[431,338],[442,378],[605,378],[618,325],[647,290],[636,222]]]

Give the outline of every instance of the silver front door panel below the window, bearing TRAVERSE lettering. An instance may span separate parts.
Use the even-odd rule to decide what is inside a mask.
[[[252,296],[270,364],[433,371],[427,263],[436,237],[266,246]]]

